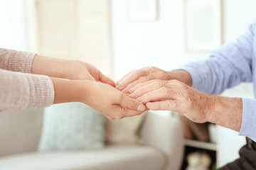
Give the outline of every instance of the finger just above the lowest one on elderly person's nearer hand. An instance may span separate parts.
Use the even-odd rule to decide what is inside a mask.
[[[164,101],[167,99],[176,99],[176,91],[173,91],[172,89],[161,87],[159,89],[156,89],[154,91],[150,91],[147,94],[142,95],[141,97],[137,98],[138,101],[142,103],[148,103],[151,101]]]

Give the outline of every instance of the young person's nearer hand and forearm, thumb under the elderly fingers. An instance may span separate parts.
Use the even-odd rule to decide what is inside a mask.
[[[129,98],[108,84],[57,78],[52,78],[52,81],[55,89],[54,103],[82,102],[109,119],[140,115],[145,111],[141,102]]]

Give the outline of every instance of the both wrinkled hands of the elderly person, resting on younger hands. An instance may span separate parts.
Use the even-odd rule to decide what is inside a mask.
[[[166,72],[145,67],[129,72],[117,81],[116,88],[153,111],[176,111],[196,123],[205,123],[213,112],[213,96],[191,87],[185,70]]]

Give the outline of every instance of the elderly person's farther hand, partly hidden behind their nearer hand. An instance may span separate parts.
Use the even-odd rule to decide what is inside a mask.
[[[117,81],[116,88],[124,93],[129,93],[129,89],[137,84],[150,81],[153,79],[171,80],[178,79],[189,86],[192,84],[191,76],[185,70],[174,70],[166,72],[156,67],[144,67],[142,69],[134,70],[126,74],[122,79]]]

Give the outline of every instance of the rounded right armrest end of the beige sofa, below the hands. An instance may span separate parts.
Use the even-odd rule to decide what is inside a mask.
[[[159,149],[166,155],[164,169],[178,170],[183,161],[183,128],[177,113],[169,117],[148,113],[142,124],[140,135],[145,145]]]

